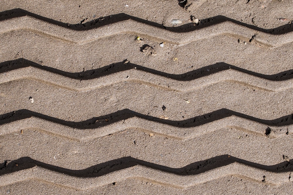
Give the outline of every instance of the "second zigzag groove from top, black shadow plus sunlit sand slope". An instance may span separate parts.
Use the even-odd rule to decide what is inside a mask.
[[[238,83],[243,86],[257,88],[259,90],[267,91],[267,92],[284,91],[286,89],[292,88],[292,85],[293,85],[293,80],[292,80],[293,70],[287,70],[282,73],[277,73],[275,75],[262,75],[262,74],[254,73],[252,71],[247,71],[244,69],[237,70],[238,69],[237,67],[235,68],[236,69],[235,70],[232,65],[229,65],[230,68],[225,70],[226,69],[225,65],[223,65],[222,67],[219,65],[219,67],[221,68],[219,67],[210,68],[210,66],[207,66],[207,67],[203,67],[203,68],[193,70],[187,73],[183,73],[180,75],[175,75],[175,74],[160,72],[160,71],[149,69],[149,68],[144,68],[144,67],[142,68],[142,66],[140,67],[139,65],[136,65],[136,64],[122,65],[123,62],[121,62],[121,63],[115,63],[110,65],[110,67],[116,67],[113,70],[111,70],[111,68],[106,66],[96,70],[87,70],[82,73],[70,73],[70,72],[64,73],[64,71],[62,70],[50,68],[47,66],[41,66],[38,64],[31,66],[30,65],[31,62],[28,62],[28,63],[24,62],[22,65],[22,62],[20,61],[21,60],[9,62],[9,64],[12,64],[12,66],[6,66],[7,65],[6,63],[3,66],[1,66],[0,64],[0,73],[6,73],[6,71],[9,72],[8,74],[6,74],[6,77],[2,77],[0,79],[1,83],[12,82],[15,80],[35,80],[41,83],[55,85],[67,90],[87,91],[87,90],[100,88],[105,85],[113,85],[115,83],[120,83],[120,82],[136,82],[140,84],[146,84],[152,87],[157,87],[163,90],[177,91],[177,92],[188,92],[188,91],[195,90],[199,87],[209,86],[209,85],[220,83],[220,82]],[[20,66],[14,66],[15,64],[18,65],[20,63],[21,63]],[[32,64],[35,64],[35,63],[32,63]],[[119,65],[115,66],[117,64]],[[27,69],[27,71],[25,71],[26,70],[24,69],[25,67],[27,68],[32,67],[33,69]],[[13,68],[17,68],[17,69],[13,69]],[[17,70],[20,68],[23,68],[22,69],[23,70],[22,72],[24,74],[23,76],[21,76],[19,72],[17,72]],[[13,73],[14,70],[16,71],[15,74]],[[145,74],[147,74],[148,76],[146,77],[146,75],[136,73],[135,71],[137,70],[145,72]],[[228,72],[228,71],[231,71],[231,72]],[[52,74],[52,76],[44,80],[43,75],[48,75],[48,74]],[[133,76],[131,78],[125,78],[124,76],[125,74],[133,75]],[[80,75],[80,76],[77,76],[77,75]],[[111,75],[112,79],[108,80],[106,75]],[[219,75],[219,76],[216,76],[216,75]],[[149,79],[149,80],[144,79],[144,78],[151,78],[151,77],[154,77],[154,79]],[[165,77],[165,78],[162,80],[161,77]],[[221,78],[223,78],[223,80]],[[72,79],[76,80],[76,82],[74,82],[74,80]],[[61,84],[60,84],[60,80],[63,80]],[[95,84],[93,84],[92,81],[88,82],[87,80],[95,80],[97,82],[94,82]],[[158,85],[156,80],[162,80],[163,83],[160,82],[160,85]],[[176,80],[176,82],[173,82],[173,84],[170,86],[170,84],[168,83],[170,83],[172,80]],[[183,81],[183,80],[187,80],[187,81]],[[261,83],[264,83],[264,84],[261,84]],[[185,87],[182,87],[183,84]]]

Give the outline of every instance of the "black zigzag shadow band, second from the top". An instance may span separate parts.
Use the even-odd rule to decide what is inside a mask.
[[[200,77],[204,77],[207,75],[212,75],[214,73],[218,73],[223,70],[234,69],[239,72],[246,73],[248,75],[253,75],[253,76],[260,77],[260,78],[267,79],[267,80],[271,80],[271,81],[284,81],[284,80],[289,80],[289,79],[293,78],[293,69],[286,70],[286,71],[283,71],[283,72],[280,72],[280,73],[277,73],[274,75],[265,75],[265,74],[253,72],[251,70],[239,68],[237,66],[230,65],[230,64],[227,64],[224,62],[215,63],[215,64],[208,65],[208,66],[205,66],[202,68],[198,68],[196,70],[189,71],[187,73],[176,75],[176,74],[164,73],[159,70],[154,70],[154,69],[147,68],[147,67],[137,65],[137,64],[133,64],[130,62],[127,64],[124,64],[125,61],[113,63],[110,65],[104,66],[102,68],[71,73],[71,72],[66,72],[63,70],[56,69],[56,68],[51,68],[49,66],[43,66],[43,65],[40,65],[38,63],[29,61],[29,60],[26,60],[23,58],[19,58],[17,60],[5,61],[5,62],[0,63],[0,73],[5,73],[10,70],[15,70],[18,68],[25,68],[25,67],[31,66],[31,67],[39,68],[41,70],[48,71],[48,72],[56,73],[58,75],[62,75],[65,77],[77,79],[77,80],[89,80],[89,79],[99,78],[99,77],[103,77],[106,75],[118,73],[118,72],[125,71],[125,70],[136,69],[136,70],[144,71],[144,72],[151,73],[154,75],[159,75],[162,77],[171,78],[173,80],[190,81],[190,80],[198,79]]]

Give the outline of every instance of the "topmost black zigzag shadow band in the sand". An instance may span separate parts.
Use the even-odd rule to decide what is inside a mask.
[[[91,21],[86,22],[86,23],[83,23],[81,21],[78,24],[68,24],[68,23],[63,23],[63,22],[53,20],[53,19],[50,19],[50,18],[45,18],[43,16],[31,13],[29,11],[26,11],[26,10],[23,10],[23,9],[20,9],[20,8],[0,12],[0,21],[1,20],[11,19],[11,18],[22,17],[22,16],[25,16],[25,15],[37,18],[39,20],[42,20],[42,21],[45,21],[45,22],[48,22],[48,23],[52,23],[54,25],[69,28],[69,29],[72,29],[72,30],[90,30],[90,29],[98,28],[98,27],[101,27],[101,26],[105,26],[105,25],[108,25],[108,24],[113,24],[113,23],[117,23],[117,22],[121,22],[121,21],[125,21],[125,20],[134,20],[134,21],[137,21],[137,22],[140,22],[140,23],[144,23],[144,24],[147,24],[147,25],[151,25],[151,26],[158,27],[158,28],[165,29],[165,30],[172,31],[172,32],[190,32],[190,31],[194,31],[194,30],[197,30],[197,29],[202,29],[202,28],[205,28],[205,27],[209,27],[209,26],[212,26],[212,25],[223,23],[223,22],[226,22],[226,21],[230,21],[232,23],[235,23],[235,24],[238,24],[238,25],[241,25],[241,26],[245,26],[245,27],[248,27],[248,28],[253,29],[253,30],[265,32],[265,33],[268,33],[268,34],[285,34],[285,33],[293,31],[293,23],[285,24],[285,25],[282,25],[282,26],[279,26],[279,27],[276,27],[276,28],[264,29],[264,28],[260,28],[260,27],[254,26],[254,25],[246,24],[246,23],[243,23],[243,22],[231,19],[231,18],[227,18],[227,17],[222,16],[222,15],[218,15],[218,16],[215,16],[215,17],[212,17],[212,18],[202,19],[202,20],[200,20],[199,24],[188,23],[188,24],[181,25],[181,26],[176,26],[176,27],[166,27],[166,26],[163,26],[163,24],[159,24],[159,23],[148,21],[148,20],[144,20],[142,18],[127,15],[125,13],[109,15],[109,16],[106,16],[106,17],[91,20]]]

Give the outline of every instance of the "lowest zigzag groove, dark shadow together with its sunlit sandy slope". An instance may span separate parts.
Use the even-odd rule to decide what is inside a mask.
[[[16,164],[18,166],[15,166]],[[35,171],[28,171],[32,168]],[[38,170],[45,170],[45,172]],[[223,174],[222,171],[224,170],[226,172]],[[42,178],[43,180],[52,180],[52,177],[54,178],[57,175],[63,175],[61,177],[57,176],[55,179],[53,179],[53,181],[57,184],[62,184],[64,183],[62,180],[65,178],[65,180],[68,182],[70,178],[73,177],[76,178],[74,183],[81,182],[81,184],[78,185],[83,186],[79,186],[78,188],[84,188],[85,186],[87,186],[86,188],[92,188],[96,185],[101,186],[110,183],[109,180],[111,182],[115,182],[116,180],[121,179],[145,177],[140,175],[142,172],[147,171],[149,172],[149,174],[147,174],[147,179],[157,181],[158,177],[160,177],[161,179],[159,179],[159,182],[161,183],[167,183],[171,185],[173,184],[182,188],[186,188],[195,184],[224,177],[226,175],[241,175],[247,177],[247,175],[249,175],[247,170],[250,170],[250,172],[254,173],[252,177],[250,177],[252,180],[258,180],[261,182],[261,178],[263,174],[265,174],[267,175],[266,184],[280,185],[288,182],[288,175],[289,172],[292,171],[292,164],[290,161],[285,161],[276,165],[267,166],[244,161],[229,155],[222,155],[207,159],[205,161],[192,163],[182,168],[169,168],[162,165],[141,161],[136,158],[124,157],[121,159],[101,163],[84,170],[69,170],[35,161],[29,157],[24,157],[7,163],[6,167],[0,170],[0,174],[2,175],[1,179],[3,179],[3,181],[5,181],[5,177],[10,177],[11,174],[21,174],[22,176],[19,177],[18,181],[27,180],[28,174],[31,175],[29,178],[38,177]],[[218,174],[216,174],[217,172]],[[220,172],[222,173],[219,174]],[[211,177],[210,175],[213,173],[215,175]],[[163,179],[163,175],[165,176],[165,179]],[[178,175],[181,176],[178,177]],[[88,177],[93,179],[86,180]],[[119,177],[120,179],[118,179]],[[190,182],[186,182],[187,178]],[[9,181],[10,180],[8,180],[8,182]],[[94,185],[91,184],[88,186],[88,182],[94,183]],[[9,183],[3,182],[1,186],[8,184]],[[68,182],[68,184],[71,186],[73,183]]]

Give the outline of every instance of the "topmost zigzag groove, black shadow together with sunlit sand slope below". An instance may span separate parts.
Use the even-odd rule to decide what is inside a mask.
[[[15,13],[17,12],[18,10],[15,11]],[[22,11],[19,11],[19,12],[22,12]],[[147,20],[128,16],[125,14],[121,14],[121,15],[117,14],[115,16],[113,15],[108,16],[108,18],[113,18],[111,19],[110,23],[108,23],[107,21],[108,19],[104,18],[103,20],[93,20],[88,23],[77,24],[77,25],[70,25],[70,24],[54,21],[49,18],[44,18],[42,16],[38,16],[28,12],[21,13],[21,14],[17,13],[15,15],[18,15],[18,18],[15,18],[13,14],[10,16],[8,14],[8,17],[2,17],[2,18],[6,18],[6,19],[10,18],[10,19],[9,20],[2,19],[1,21],[2,27],[0,28],[0,33],[11,32],[13,30],[29,30],[29,31],[33,31],[34,33],[37,32],[39,34],[46,34],[47,36],[50,36],[52,38],[65,40],[67,42],[71,42],[75,44],[76,43],[84,44],[96,39],[114,35],[113,32],[116,32],[115,34],[121,34],[121,33],[130,33],[134,35],[140,34],[146,38],[153,39],[156,42],[168,42],[171,44],[186,44],[194,40],[202,39],[202,37],[206,37],[206,36],[203,36],[204,34],[209,34],[208,37],[226,34],[232,37],[237,37],[237,39],[241,37],[241,39],[244,38],[245,40],[249,40],[250,38],[248,37],[251,37],[253,34],[255,34],[255,31],[258,31],[259,32],[258,37],[256,37],[254,41],[264,46],[268,46],[268,47],[278,46],[280,44],[290,43],[293,41],[293,38],[288,38],[288,37],[292,37],[293,26],[291,26],[291,24],[286,24],[286,25],[277,27],[275,29],[262,29],[260,27],[244,24],[239,21],[226,18],[224,16],[217,16],[214,18],[201,20],[200,25],[195,25],[195,23],[191,23],[191,24],[189,23],[179,27],[164,27],[161,24],[149,22]],[[26,15],[31,15],[31,16],[26,16]],[[130,20],[124,20],[123,17],[129,18]],[[113,23],[114,20],[115,22]],[[205,23],[204,21],[209,21],[209,22]],[[12,23],[14,24],[13,26],[11,26]],[[47,27],[48,23],[50,24],[54,23],[56,25],[55,27],[53,27],[52,32],[48,32],[47,30],[44,30],[44,29],[48,29]],[[141,28],[142,25],[144,26],[144,28]],[[131,26],[132,28],[130,29],[139,29],[139,30],[134,30],[134,31],[121,30],[123,29],[122,26]],[[229,27],[227,28],[227,26]],[[156,32],[154,32],[154,30],[151,30],[151,29],[156,29]],[[215,29],[217,29],[216,32],[215,32]],[[234,30],[231,32],[231,29],[234,29]],[[90,35],[86,33],[87,30],[90,30],[91,32],[96,32],[96,33],[91,33]],[[161,33],[158,33],[157,32],[158,30]],[[196,31],[197,33],[194,34],[193,31]],[[70,33],[70,32],[76,32],[76,33]],[[185,32],[185,35],[184,36],[181,35],[180,37],[182,38],[180,38],[178,41],[178,34],[182,32]],[[64,33],[74,34],[74,35],[64,36]],[[160,37],[158,37],[158,34],[160,34],[159,35]],[[168,37],[168,39],[166,39],[166,37]]]

